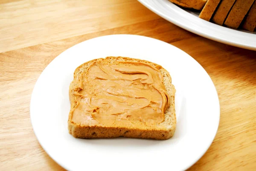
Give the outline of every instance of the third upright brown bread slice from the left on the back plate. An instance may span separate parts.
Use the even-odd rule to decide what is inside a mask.
[[[237,29],[244,19],[244,16],[253,5],[253,2],[254,0],[236,0],[227,19],[224,21],[224,25]]]

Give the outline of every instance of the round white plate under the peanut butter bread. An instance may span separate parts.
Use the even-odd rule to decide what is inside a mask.
[[[86,61],[106,56],[145,59],[170,72],[177,90],[177,129],[171,139],[76,139],[68,133],[73,72]],[[52,159],[73,171],[185,170],[211,145],[219,116],[218,95],[201,65],[175,46],[138,35],[108,35],[67,49],[42,72],[30,104],[38,141]]]

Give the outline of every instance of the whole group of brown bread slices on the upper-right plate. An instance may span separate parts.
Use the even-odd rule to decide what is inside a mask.
[[[199,17],[233,29],[256,30],[256,0],[170,0],[200,10]]]

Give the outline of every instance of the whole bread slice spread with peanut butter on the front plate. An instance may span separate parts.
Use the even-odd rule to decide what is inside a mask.
[[[141,65],[144,66],[143,70],[137,72],[137,69],[131,69]],[[117,69],[120,67],[121,69]],[[150,68],[157,74],[152,76],[152,74],[148,74],[151,72],[146,69],[144,71],[144,68]],[[121,75],[124,78],[116,75]],[[135,76],[136,79],[127,80],[126,78],[130,78],[130,76]],[[143,76],[143,79],[137,79],[137,76]],[[145,80],[151,80],[151,82]],[[95,81],[99,81],[99,83],[95,84]],[[115,81],[123,81],[126,86],[120,87],[120,84],[116,84]],[[109,87],[112,84],[113,86]],[[137,94],[133,93],[134,89],[130,89],[131,87],[134,88],[134,84]],[[159,86],[156,88],[155,84],[161,88]],[[106,90],[105,86],[108,87]],[[151,88],[148,92],[149,87]],[[154,92],[162,92],[161,96],[157,94],[158,102],[157,97],[153,96],[155,95]],[[163,94],[163,92],[165,93]],[[76,68],[74,80],[70,84],[69,96],[71,109],[68,118],[68,130],[76,138],[124,136],[143,139],[169,139],[174,135],[176,128],[175,87],[169,72],[158,64],[125,57],[107,57],[88,61]],[[162,99],[163,103],[166,104],[161,110],[156,107],[156,104],[162,105],[159,103],[159,99]],[[140,100],[143,100],[147,107],[150,107],[150,110],[141,110],[144,107],[139,107],[137,110],[136,107],[140,105],[138,102]],[[122,105],[135,107],[136,110],[120,112]],[[160,115],[155,115],[155,112],[160,113]]]

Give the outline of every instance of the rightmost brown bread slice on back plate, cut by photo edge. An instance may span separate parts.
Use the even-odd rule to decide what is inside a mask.
[[[243,28],[251,32],[256,28],[256,1],[254,1],[253,6],[245,18]]]

